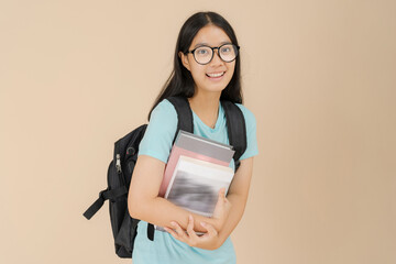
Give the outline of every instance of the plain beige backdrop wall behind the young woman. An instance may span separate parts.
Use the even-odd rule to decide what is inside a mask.
[[[108,204],[81,213],[201,10],[233,25],[257,119],[239,263],[396,263],[393,0],[1,0],[0,263],[131,263]]]

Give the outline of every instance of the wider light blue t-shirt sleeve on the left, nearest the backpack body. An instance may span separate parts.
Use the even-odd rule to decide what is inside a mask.
[[[177,129],[177,113],[168,100],[152,111],[147,129],[139,145],[139,155],[148,155],[167,163]]]

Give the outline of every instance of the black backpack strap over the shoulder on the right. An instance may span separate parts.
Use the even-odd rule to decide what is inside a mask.
[[[235,168],[238,168],[239,160],[248,147],[245,120],[241,109],[235,103],[222,100],[221,106],[226,112],[228,135],[230,145],[232,145],[235,151],[233,160],[235,162]]]

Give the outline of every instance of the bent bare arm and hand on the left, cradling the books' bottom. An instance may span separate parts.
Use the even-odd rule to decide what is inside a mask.
[[[177,222],[184,230],[187,230],[191,212],[158,197],[164,169],[165,163],[162,161],[147,155],[139,156],[128,197],[129,212],[133,218],[156,226],[174,228],[170,222]],[[200,222],[206,222],[207,227],[213,227],[218,232],[222,228],[227,215],[227,212],[220,212],[216,217],[207,218],[193,213],[194,230],[208,232],[208,229],[200,224]]]

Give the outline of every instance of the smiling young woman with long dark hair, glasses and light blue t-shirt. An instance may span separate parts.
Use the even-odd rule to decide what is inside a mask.
[[[229,144],[224,110],[220,99],[242,110],[248,147],[241,156],[229,191],[219,191],[211,218],[188,212],[158,197],[164,169],[177,129],[177,113],[166,100],[188,98],[194,133]],[[231,25],[218,13],[199,12],[183,25],[175,51],[174,70],[150,113],[150,123],[140,144],[129,196],[130,215],[142,221],[138,227],[133,263],[235,263],[230,234],[240,221],[257,154],[255,118],[242,106],[240,56]],[[230,164],[234,168],[233,161]],[[165,227],[147,239],[147,222]],[[205,232],[196,235],[195,231]]]

